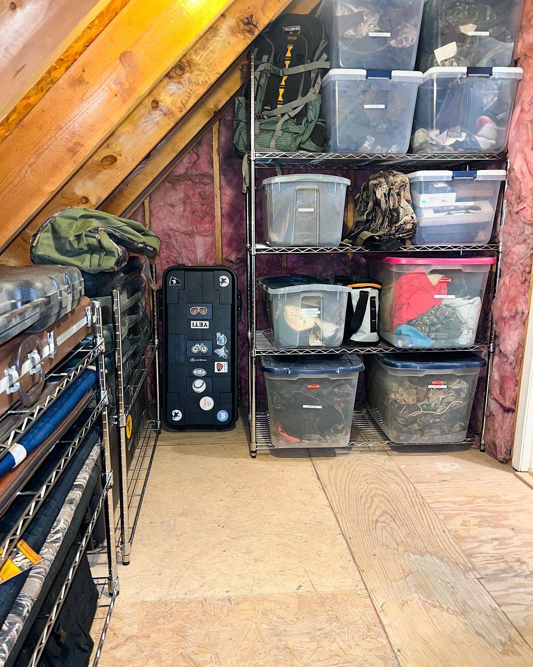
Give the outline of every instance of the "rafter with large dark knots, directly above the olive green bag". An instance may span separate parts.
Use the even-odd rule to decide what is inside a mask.
[[[317,4],[318,0],[294,0],[288,9],[293,13],[307,13]],[[249,0],[235,0],[187,56],[31,221],[21,239],[0,256],[0,263],[24,263],[31,235],[56,211],[74,205],[99,207],[131,173],[132,167],[153,150],[205,91],[211,91],[235,58],[286,5],[286,0],[268,0],[259,7]],[[152,173],[157,175],[155,169]],[[105,210],[113,213],[119,207],[114,203],[108,206],[107,201],[103,205]]]

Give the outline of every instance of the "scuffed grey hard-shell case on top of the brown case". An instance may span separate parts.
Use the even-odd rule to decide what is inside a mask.
[[[78,305],[83,289],[73,267],[0,267],[0,344],[23,331],[43,331]]]

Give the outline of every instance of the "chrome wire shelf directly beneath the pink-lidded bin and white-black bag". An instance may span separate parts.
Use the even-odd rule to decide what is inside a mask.
[[[470,348],[442,348],[431,350],[431,352],[486,352],[488,343],[484,340],[476,340]],[[255,332],[255,354],[264,356],[266,354],[380,354],[383,352],[428,352],[427,348],[394,348],[394,346],[381,340],[378,344],[347,345],[338,348],[278,348],[274,344],[274,334],[270,329]]]

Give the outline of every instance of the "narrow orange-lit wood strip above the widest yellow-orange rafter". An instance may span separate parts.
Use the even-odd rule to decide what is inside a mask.
[[[41,99],[41,97],[51,89],[54,83],[65,74],[67,69],[69,69],[83,51],[87,49],[89,44],[98,37],[101,31],[103,31],[109,22],[115,18],[119,11],[127,5],[129,0],[106,0],[106,2],[107,5],[105,5],[102,11],[87,24],[85,29],[75,37],[72,43],[67,45],[65,51],[63,51],[57,60],[50,65],[47,71],[41,75],[41,78],[27,90],[25,95],[20,97],[11,111],[8,111],[8,113],[5,114],[5,117],[1,119],[0,141],[3,141],[5,137],[17,127],[25,115],[35,107],[39,99]],[[76,3],[71,4],[77,6]],[[65,39],[65,41],[68,40]]]

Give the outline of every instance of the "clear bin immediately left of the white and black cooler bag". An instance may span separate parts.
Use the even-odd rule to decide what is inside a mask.
[[[333,348],[342,343],[350,287],[310,275],[258,280],[278,348]]]

